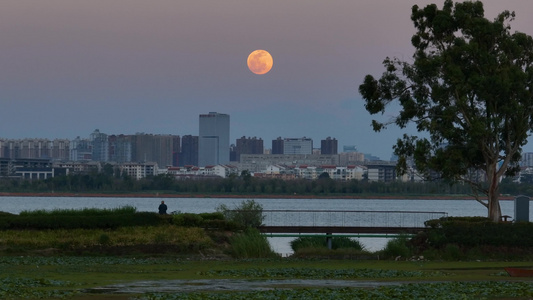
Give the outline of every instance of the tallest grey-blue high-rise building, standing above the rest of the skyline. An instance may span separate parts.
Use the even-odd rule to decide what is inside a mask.
[[[229,115],[210,112],[200,115],[198,137],[198,165],[227,164],[229,162]]]

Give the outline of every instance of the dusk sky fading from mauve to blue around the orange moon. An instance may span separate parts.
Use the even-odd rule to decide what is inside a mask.
[[[443,2],[2,1],[0,137],[198,135],[199,114],[219,112],[232,144],[330,136],[388,160],[403,132],[373,132],[358,87],[385,57],[411,59],[411,7]],[[483,2],[533,35],[533,1]],[[256,49],[274,59],[267,74],[248,70]]]

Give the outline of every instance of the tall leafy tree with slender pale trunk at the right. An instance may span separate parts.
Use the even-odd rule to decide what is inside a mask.
[[[375,131],[414,123],[423,133],[406,134],[393,147],[400,174],[412,159],[427,178],[470,184],[493,221],[501,217],[500,180],[519,171],[533,129],[533,40],[511,33],[514,17],[504,11],[490,21],[480,1],[415,5],[413,61],[386,58],[381,78],[367,75],[359,86],[369,113],[401,107],[392,119],[372,121]]]

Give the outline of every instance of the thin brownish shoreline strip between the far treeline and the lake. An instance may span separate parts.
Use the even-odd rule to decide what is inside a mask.
[[[100,197],[100,198],[235,198],[235,199],[406,199],[406,200],[475,200],[467,195],[218,195],[218,194],[168,194],[168,193],[7,193],[0,192],[0,197]],[[514,196],[500,196],[500,200],[514,200]],[[486,200],[486,197],[482,198]]]

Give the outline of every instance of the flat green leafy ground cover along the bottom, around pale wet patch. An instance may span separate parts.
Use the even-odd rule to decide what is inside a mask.
[[[505,266],[524,262],[396,262],[355,260],[190,260],[184,257],[0,257],[2,299],[519,299],[533,282]],[[317,275],[320,274],[320,275]],[[94,294],[95,288],[165,280],[337,279],[375,282],[375,288],[286,288],[261,291]],[[391,283],[393,285],[383,285]],[[396,284],[397,283],[397,284]]]

